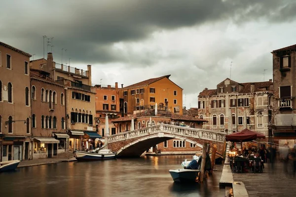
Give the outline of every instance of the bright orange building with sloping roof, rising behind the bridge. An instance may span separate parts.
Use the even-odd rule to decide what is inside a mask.
[[[151,78],[123,87],[119,90],[123,98],[124,115],[135,114],[141,110],[154,109],[182,114],[183,89],[169,79],[171,75]]]

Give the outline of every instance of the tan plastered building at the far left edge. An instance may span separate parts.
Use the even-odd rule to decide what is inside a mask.
[[[30,57],[0,42],[0,161],[30,159]]]

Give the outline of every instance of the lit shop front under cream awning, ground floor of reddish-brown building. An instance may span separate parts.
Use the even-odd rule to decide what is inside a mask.
[[[33,140],[33,159],[52,158],[57,154],[59,140],[52,137],[36,137]]]

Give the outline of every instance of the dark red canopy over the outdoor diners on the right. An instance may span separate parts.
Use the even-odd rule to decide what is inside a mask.
[[[265,139],[265,136],[259,132],[244,129],[243,131],[234,132],[229,135],[226,135],[225,138],[226,138],[226,141],[231,141],[231,142],[246,142],[246,141],[252,141],[256,138]]]

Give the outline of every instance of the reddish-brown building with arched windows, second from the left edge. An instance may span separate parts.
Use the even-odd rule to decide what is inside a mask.
[[[33,159],[52,158],[68,150],[66,90],[45,71],[31,69]]]

